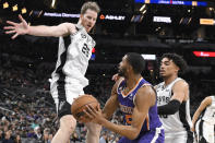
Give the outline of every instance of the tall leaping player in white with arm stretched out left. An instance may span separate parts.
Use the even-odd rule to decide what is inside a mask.
[[[29,26],[19,15],[21,23],[8,21],[10,26],[4,27],[8,29],[7,34],[14,34],[12,39],[25,34],[59,37],[58,61],[56,70],[51,74],[50,92],[56,103],[60,128],[53,136],[52,143],[68,143],[75,129],[76,120],[73,118],[70,107],[73,99],[84,94],[83,88],[88,85],[85,72],[95,41],[87,33],[94,27],[99,11],[96,2],[85,2],[82,5],[77,24]],[[96,143],[97,126],[88,123],[87,128],[86,142]]]

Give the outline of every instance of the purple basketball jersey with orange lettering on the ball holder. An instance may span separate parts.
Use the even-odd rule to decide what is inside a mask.
[[[122,80],[119,83],[119,86],[117,88],[118,93],[118,100],[120,105],[120,110],[123,112],[124,123],[130,126],[132,121],[132,112],[134,108],[134,97],[136,95],[136,92],[140,87],[150,85],[152,86],[147,81],[145,81],[143,78],[139,80],[135,87],[132,88],[127,95],[122,93],[123,88],[126,88],[126,81]],[[162,122],[159,120],[159,117],[157,115],[157,103],[150,108],[148,115],[143,123],[143,127],[141,129],[140,135],[144,134],[150,131],[156,130],[156,128],[160,128]]]

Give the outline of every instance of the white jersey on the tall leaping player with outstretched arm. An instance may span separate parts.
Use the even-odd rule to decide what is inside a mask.
[[[56,70],[51,74],[51,82],[55,83],[63,76],[65,84],[77,81],[83,87],[88,85],[85,72],[94,46],[94,39],[86,33],[85,28],[80,25],[75,34],[69,35],[68,37],[60,37],[58,61]]]

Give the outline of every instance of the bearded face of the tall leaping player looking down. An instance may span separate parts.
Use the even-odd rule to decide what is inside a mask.
[[[97,12],[87,9],[84,14],[81,14],[81,22],[82,25],[85,27],[86,32],[91,32],[91,29],[94,27],[96,20],[97,20]]]

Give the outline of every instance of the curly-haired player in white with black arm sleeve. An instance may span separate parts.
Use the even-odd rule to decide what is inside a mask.
[[[165,129],[165,143],[193,143],[189,85],[178,78],[178,73],[183,72],[186,67],[186,61],[176,53],[162,57],[159,74],[164,82],[155,88],[158,115]]]

